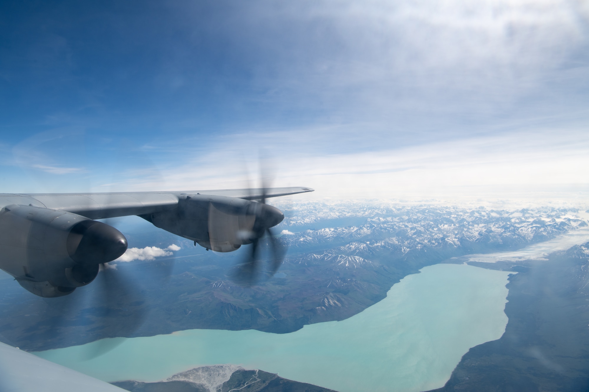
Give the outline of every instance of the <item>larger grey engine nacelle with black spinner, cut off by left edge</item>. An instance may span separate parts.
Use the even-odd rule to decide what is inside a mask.
[[[81,215],[16,204],[0,210],[0,268],[41,297],[87,285],[99,264],[125,250],[120,231]]]

